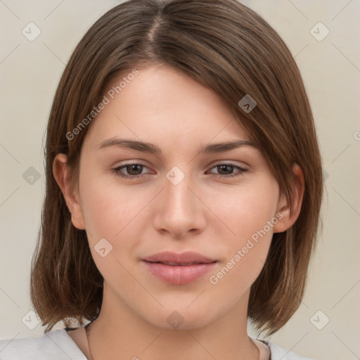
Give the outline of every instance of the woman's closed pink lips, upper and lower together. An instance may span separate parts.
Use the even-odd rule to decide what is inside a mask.
[[[160,252],[142,259],[146,269],[160,280],[174,285],[186,285],[213,269],[217,260],[198,252]]]

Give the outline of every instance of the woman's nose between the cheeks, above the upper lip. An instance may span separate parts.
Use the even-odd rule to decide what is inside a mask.
[[[207,207],[201,200],[200,187],[193,176],[183,176],[179,168],[167,174],[155,205],[155,229],[176,239],[200,233],[206,225]]]

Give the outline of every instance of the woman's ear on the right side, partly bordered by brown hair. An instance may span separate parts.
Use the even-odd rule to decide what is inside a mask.
[[[293,188],[293,213],[290,214],[290,205],[285,195],[281,195],[278,203],[278,213],[281,213],[283,217],[281,217],[281,219],[279,217],[278,222],[274,225],[274,233],[281,233],[288,230],[290,226],[293,226],[300,214],[302,198],[304,196],[304,174],[297,164],[293,165],[293,172],[297,178]]]

